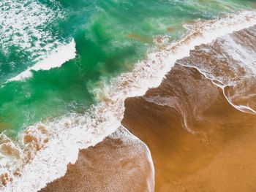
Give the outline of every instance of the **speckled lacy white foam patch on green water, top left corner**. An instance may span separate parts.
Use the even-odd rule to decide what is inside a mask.
[[[8,54],[10,47],[15,46],[31,53],[45,53],[58,45],[53,34],[45,28],[56,18],[63,17],[60,6],[53,6],[50,8],[31,0],[0,1],[1,51]]]

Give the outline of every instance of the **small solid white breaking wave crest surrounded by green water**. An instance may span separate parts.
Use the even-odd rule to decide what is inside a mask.
[[[75,40],[72,39],[72,41],[69,42],[69,44],[59,45],[59,47],[53,50],[46,58],[42,59],[42,61],[38,61],[37,64],[29,67],[17,76],[12,77],[7,82],[26,80],[27,78],[32,77],[31,71],[49,70],[52,68],[60,67],[66,61],[75,58],[75,55]]]

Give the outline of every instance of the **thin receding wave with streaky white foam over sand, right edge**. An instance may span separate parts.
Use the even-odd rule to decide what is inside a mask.
[[[256,28],[253,26],[200,45],[177,63],[195,67],[222,88],[227,101],[237,110],[256,114],[255,41]]]

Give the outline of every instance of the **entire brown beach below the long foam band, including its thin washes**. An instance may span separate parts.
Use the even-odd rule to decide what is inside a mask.
[[[126,99],[121,123],[151,151],[155,191],[256,191],[256,115],[239,111],[256,106],[255,34],[253,27],[195,47],[158,88]],[[229,86],[222,91],[206,77]],[[151,191],[146,145],[120,138],[80,150],[42,191]]]

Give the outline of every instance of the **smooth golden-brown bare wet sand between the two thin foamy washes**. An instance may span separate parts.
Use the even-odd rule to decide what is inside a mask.
[[[127,99],[123,120],[151,150],[156,191],[256,191],[255,123],[196,69],[178,65],[159,88]]]

